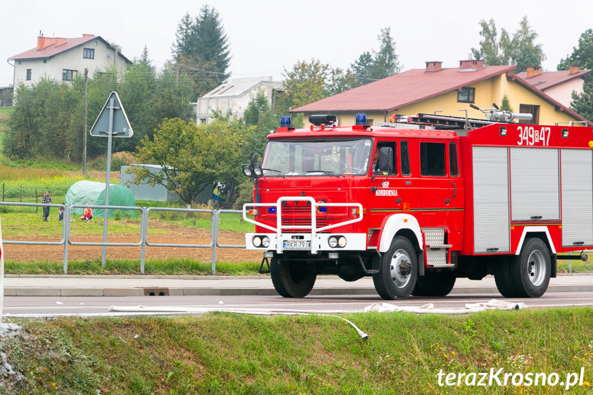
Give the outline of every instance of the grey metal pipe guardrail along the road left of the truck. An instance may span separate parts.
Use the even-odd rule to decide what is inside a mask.
[[[200,210],[183,208],[165,208],[165,207],[129,207],[114,205],[62,205],[62,204],[43,204],[43,203],[13,203],[0,202],[0,206],[25,206],[25,207],[62,207],[64,210],[62,221],[62,239],[60,241],[26,241],[26,240],[3,240],[4,244],[14,245],[63,245],[63,271],[68,273],[68,245],[90,245],[90,246],[111,246],[111,247],[141,247],[140,251],[140,273],[144,273],[145,249],[148,247],[186,247],[186,248],[211,248],[212,249],[212,274],[216,273],[216,247],[218,248],[245,248],[245,245],[221,245],[219,244],[219,222],[220,214],[236,213],[241,214],[241,210]],[[91,209],[102,210],[136,210],[140,212],[140,233],[138,242],[76,242],[71,240],[70,221],[72,209],[79,207],[89,207]],[[148,214],[151,211],[166,212],[202,212],[212,215],[212,230],[210,243],[208,244],[166,244],[148,241]],[[108,224],[109,225],[109,224]]]

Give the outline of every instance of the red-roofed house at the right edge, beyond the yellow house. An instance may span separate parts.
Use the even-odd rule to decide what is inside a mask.
[[[570,65],[568,70],[563,71],[541,71],[541,66],[533,66],[517,76],[569,107],[572,91],[583,92],[583,78],[588,74],[591,70],[581,70],[578,65]]]

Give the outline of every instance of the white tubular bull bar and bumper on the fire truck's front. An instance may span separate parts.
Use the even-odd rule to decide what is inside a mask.
[[[282,202],[284,201],[308,201],[311,204],[311,225],[282,225]],[[251,218],[247,218],[247,211],[249,207],[276,207],[276,227],[267,225],[265,223],[260,223],[259,221],[255,221]],[[350,219],[348,221],[342,221],[339,223],[333,223],[331,225],[326,225],[323,227],[317,227],[317,207],[357,207],[358,208],[358,217],[354,219]],[[276,242],[276,252],[282,253],[284,251],[283,241],[291,240],[291,236],[293,234],[285,234],[282,232],[284,229],[309,229],[311,233],[309,234],[296,234],[296,236],[307,236],[305,240],[311,241],[311,253],[317,253],[319,250],[320,242],[318,241],[319,236],[317,233],[324,232],[329,229],[334,229],[336,227],[341,227],[344,225],[350,225],[351,223],[357,223],[362,221],[363,211],[361,203],[317,203],[315,199],[310,196],[291,196],[291,197],[281,197],[276,201],[276,203],[245,203],[243,205],[243,219],[249,223],[254,225],[258,225],[260,227],[264,227],[265,229],[269,229],[272,232],[276,233],[273,238],[271,239],[270,248],[273,246],[273,242]],[[251,238],[255,234],[246,234],[246,242],[247,248],[251,244]],[[366,234],[348,234],[350,236],[350,240],[354,242],[356,245],[355,249],[364,249],[365,242],[366,242]],[[326,243],[324,243],[325,245]],[[362,244],[362,247],[360,246]],[[352,247],[354,247],[354,245]],[[350,249],[350,248],[348,248]]]

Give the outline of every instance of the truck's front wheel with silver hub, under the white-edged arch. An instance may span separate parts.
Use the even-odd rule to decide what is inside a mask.
[[[374,288],[385,300],[407,299],[416,286],[418,262],[414,246],[402,236],[396,236],[383,254],[379,273],[372,275]]]

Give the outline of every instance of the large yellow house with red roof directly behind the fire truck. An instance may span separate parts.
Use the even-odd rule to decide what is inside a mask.
[[[438,113],[484,119],[471,109],[500,106],[506,96],[515,113],[532,113],[533,124],[586,122],[523,78],[513,74],[515,66],[484,66],[482,60],[461,60],[459,67],[445,68],[427,62],[425,69],[411,69],[337,95],[292,109],[291,113],[337,115],[338,124],[354,124],[356,113],[366,113],[372,122],[388,122],[396,115]]]

